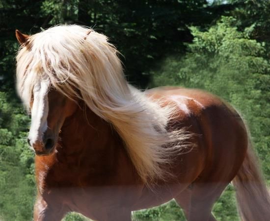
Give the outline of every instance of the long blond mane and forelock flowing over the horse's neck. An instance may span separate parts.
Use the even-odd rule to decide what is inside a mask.
[[[17,55],[17,89],[29,107],[34,84],[47,79],[70,98],[83,99],[123,139],[141,179],[165,179],[162,165],[181,153],[187,135],[167,131],[175,107],[128,84],[117,50],[105,35],[78,25],[59,25],[32,35]]]

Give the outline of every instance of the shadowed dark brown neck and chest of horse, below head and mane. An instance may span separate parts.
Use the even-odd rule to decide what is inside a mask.
[[[141,182],[119,135],[89,108],[66,119],[59,136],[54,173],[64,171],[65,182],[72,175],[77,178],[71,182],[82,186]]]

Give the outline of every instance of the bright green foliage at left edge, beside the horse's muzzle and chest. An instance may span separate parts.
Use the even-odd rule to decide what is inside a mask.
[[[29,119],[8,93],[0,92],[0,217],[28,221],[35,187],[33,153],[26,143]]]

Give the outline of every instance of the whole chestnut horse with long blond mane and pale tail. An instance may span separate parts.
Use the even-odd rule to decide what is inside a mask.
[[[34,221],[75,211],[97,221],[175,199],[188,221],[216,221],[232,181],[245,221],[266,221],[270,197],[238,112],[205,91],[140,91],[108,38],[79,25],[16,30],[17,90],[31,114]]]

